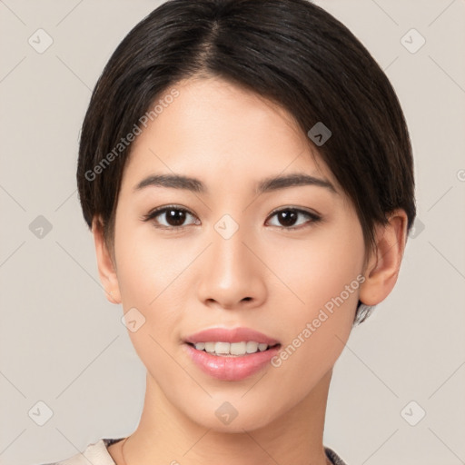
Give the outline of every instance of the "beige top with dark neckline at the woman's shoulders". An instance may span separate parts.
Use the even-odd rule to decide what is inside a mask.
[[[92,463],[92,465],[116,465],[112,456],[108,452],[107,447],[112,445],[114,442],[118,442],[118,440],[124,440],[124,438],[101,439],[94,442],[94,444],[89,444],[84,452],[77,453],[69,459],[54,463],[45,463],[43,465],[89,465],[89,463]],[[325,447],[324,450],[333,465],[346,465],[336,452],[327,447]]]

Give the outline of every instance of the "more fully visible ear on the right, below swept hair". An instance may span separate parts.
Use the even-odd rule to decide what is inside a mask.
[[[391,213],[388,224],[376,226],[376,250],[365,267],[359,295],[365,305],[382,302],[397,282],[407,241],[407,223],[407,213],[398,209]]]

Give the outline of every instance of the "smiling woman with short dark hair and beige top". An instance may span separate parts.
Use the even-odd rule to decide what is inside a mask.
[[[393,289],[411,143],[361,43],[304,0],[172,0],[95,86],[77,183],[147,368],[127,438],[60,463],[344,464],[332,367]]]

